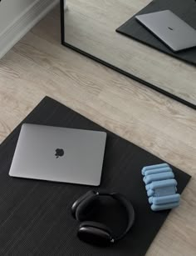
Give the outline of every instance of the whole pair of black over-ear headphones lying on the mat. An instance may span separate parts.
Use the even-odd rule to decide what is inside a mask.
[[[110,228],[105,226],[105,224],[87,221],[87,217],[92,212],[92,208],[96,206],[98,199],[102,196],[111,197],[125,207],[128,219],[127,226],[125,231],[118,237],[115,237],[110,231]],[[88,191],[73,203],[71,213],[76,220],[80,222],[83,221],[78,229],[78,237],[86,243],[93,243],[100,246],[106,246],[124,238],[125,234],[129,232],[135,221],[135,211],[132,204],[120,193],[99,193],[92,190]]]

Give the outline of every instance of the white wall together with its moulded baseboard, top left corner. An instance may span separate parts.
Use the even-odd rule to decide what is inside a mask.
[[[57,3],[59,0],[2,0],[0,2],[0,58]]]

